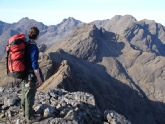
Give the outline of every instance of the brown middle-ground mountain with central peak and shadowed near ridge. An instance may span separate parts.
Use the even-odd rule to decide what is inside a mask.
[[[165,122],[164,57],[134,49],[127,37],[93,24],[75,28],[46,52],[58,69],[42,90],[89,92],[102,112],[115,109],[136,124]]]

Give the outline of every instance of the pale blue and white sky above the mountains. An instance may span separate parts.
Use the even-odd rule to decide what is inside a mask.
[[[0,20],[8,23],[23,17],[45,25],[68,17],[88,23],[126,14],[165,26],[165,0],[0,0]]]

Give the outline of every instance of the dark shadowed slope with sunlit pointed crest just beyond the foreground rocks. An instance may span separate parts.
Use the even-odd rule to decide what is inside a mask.
[[[155,118],[163,121],[161,114],[157,114],[158,117],[152,112],[163,113],[164,105],[149,100],[136,84],[132,84],[131,88],[108,75],[106,77],[101,67],[77,60],[61,51],[52,56],[56,58],[56,62],[59,59],[64,61],[61,62],[58,71],[40,87],[41,91],[59,87],[70,92],[89,92],[95,96],[96,104],[102,113],[108,108],[114,109],[124,114],[127,119],[133,121],[132,123],[155,123]],[[161,105],[161,109],[158,105]],[[130,113],[134,114],[130,115]],[[149,114],[147,114],[148,118],[145,113]]]

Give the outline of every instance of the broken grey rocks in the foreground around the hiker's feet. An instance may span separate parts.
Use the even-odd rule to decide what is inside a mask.
[[[0,87],[0,124],[26,123],[20,106],[21,95],[20,88]],[[43,116],[36,124],[131,124],[113,110],[101,115],[93,95],[85,92],[37,91],[33,108],[36,114]]]

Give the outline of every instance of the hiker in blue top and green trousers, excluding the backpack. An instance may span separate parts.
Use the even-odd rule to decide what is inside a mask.
[[[38,58],[39,50],[36,40],[39,37],[39,29],[31,27],[28,31],[29,41],[26,44],[26,68],[27,74],[22,81],[22,99],[21,105],[23,116],[28,123],[39,121],[41,117],[37,117],[33,110],[35,94],[37,87],[42,85],[42,79],[39,73]]]

